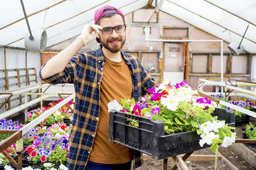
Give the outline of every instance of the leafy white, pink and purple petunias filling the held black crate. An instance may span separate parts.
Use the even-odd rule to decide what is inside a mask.
[[[228,147],[235,142],[235,133],[231,132],[234,128],[211,115],[217,104],[207,97],[194,98],[193,95],[197,94],[197,91],[186,81],[176,84],[176,87],[171,86],[169,81],[164,81],[148,92],[138,102],[135,102],[134,98],[122,98],[120,105],[114,100],[108,103],[108,109],[162,120],[166,134],[196,130],[201,136],[201,147],[204,144],[210,145],[212,152],[218,149],[219,144]],[[137,127],[134,121],[131,121],[130,125]]]

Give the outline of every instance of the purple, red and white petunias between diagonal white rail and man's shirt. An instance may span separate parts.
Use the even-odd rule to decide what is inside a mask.
[[[33,135],[33,144],[26,149],[29,154],[28,164],[33,167],[41,167],[43,163],[51,163],[54,166],[65,164],[69,152],[70,126],[55,123],[42,132]]]

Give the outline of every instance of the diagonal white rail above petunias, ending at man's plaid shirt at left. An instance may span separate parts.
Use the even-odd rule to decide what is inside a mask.
[[[36,125],[38,125],[38,123],[41,123],[42,120],[45,120],[46,118],[48,118],[49,115],[51,115],[52,113],[54,113],[55,111],[58,110],[58,108],[62,107],[63,105],[65,105],[65,103],[68,103],[68,101],[70,101],[71,99],[73,99],[75,97],[75,94],[72,94],[71,96],[68,96],[68,98],[65,98],[64,101],[61,101],[60,103],[58,103],[58,105],[55,105],[53,108],[50,108],[50,110],[45,111],[42,115],[39,115],[38,118],[32,120],[30,123],[28,123],[27,125],[24,125],[20,130],[22,131],[22,135],[24,135],[26,132],[28,132],[29,130],[31,130],[33,127],[35,127]],[[39,98],[40,99],[40,98]]]

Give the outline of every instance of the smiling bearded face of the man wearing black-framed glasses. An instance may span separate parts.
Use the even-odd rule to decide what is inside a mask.
[[[103,28],[121,25],[124,25],[124,21],[122,20],[122,16],[119,14],[111,16],[110,18],[102,18],[100,21],[100,26]],[[113,29],[112,33],[110,34],[103,34],[102,31],[100,31],[99,38],[103,47],[112,53],[117,53],[122,49],[122,46],[124,45],[125,31],[122,33],[117,33],[116,30]]]

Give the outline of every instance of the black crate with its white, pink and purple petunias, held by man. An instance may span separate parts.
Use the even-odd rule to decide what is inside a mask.
[[[117,140],[121,144],[125,142],[122,139],[124,134],[114,139],[119,135],[119,131],[122,130],[125,130],[125,132],[131,130],[134,138],[139,133],[138,140],[132,139],[132,141],[129,141],[132,148],[137,149],[139,145],[139,147],[146,149],[151,143],[159,142],[159,148],[147,149],[145,153],[169,152],[164,156],[161,153],[159,157],[155,155],[156,159],[191,152],[209,145],[211,151],[215,152],[218,151],[219,145],[228,147],[235,142],[235,133],[232,132],[235,128],[227,125],[223,120],[218,120],[217,116],[212,115],[219,111],[225,112],[225,110],[216,108],[216,103],[210,101],[207,97],[194,98],[193,95],[197,94],[197,91],[194,91],[186,81],[176,84],[176,87],[171,86],[170,81],[164,81],[155,88],[149,89],[148,92],[139,102],[135,102],[133,98],[122,98],[121,103],[114,100],[108,104],[110,112],[110,141]],[[114,112],[117,113],[116,117],[113,117]],[[131,115],[122,115],[122,112]],[[218,114],[218,116],[220,115],[222,114]],[[123,118],[127,118],[128,124],[134,126],[134,128],[129,129],[127,126],[124,128],[127,123],[124,123]],[[159,120],[161,121],[159,122]],[[119,125],[113,125],[116,122],[119,122]],[[230,121],[230,123],[233,122],[234,120]],[[157,131],[154,127],[155,124],[160,127],[161,123],[164,123],[164,133]],[[117,128],[114,129],[116,131],[112,131],[113,128]],[[138,129],[140,131],[137,131]],[[146,131],[151,131],[151,134],[146,135]],[[159,133],[161,135],[156,139],[154,135]],[[140,137],[145,137],[145,139]],[[142,141],[149,140],[149,138],[153,142],[144,143]],[[168,147],[166,147],[167,145]]]

